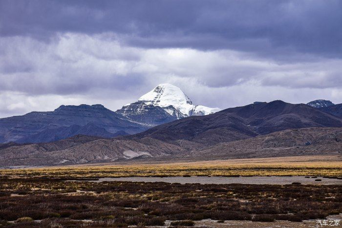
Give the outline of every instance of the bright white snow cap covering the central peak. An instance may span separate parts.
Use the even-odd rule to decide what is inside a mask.
[[[173,106],[185,116],[207,115],[220,111],[202,105],[193,105],[190,98],[178,87],[171,84],[160,84],[150,92],[139,98],[146,104],[166,108]]]

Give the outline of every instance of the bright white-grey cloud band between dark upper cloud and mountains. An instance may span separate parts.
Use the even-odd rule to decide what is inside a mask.
[[[116,110],[159,83],[171,83],[196,104],[227,108],[253,101],[342,102],[342,60],[278,63],[247,52],[137,48],[115,34],[59,34],[46,43],[0,38],[0,117],[54,110],[62,104],[104,104]]]

